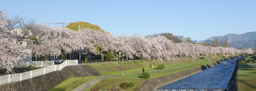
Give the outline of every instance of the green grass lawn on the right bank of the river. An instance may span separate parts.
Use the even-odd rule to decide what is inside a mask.
[[[238,87],[239,91],[256,91],[256,67],[239,60],[238,65]]]

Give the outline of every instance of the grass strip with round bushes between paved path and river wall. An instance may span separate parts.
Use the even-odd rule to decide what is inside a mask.
[[[208,59],[204,59],[204,60],[198,60],[196,62],[183,63],[183,64],[174,64],[174,65],[169,65],[169,66],[164,67],[164,69],[169,69],[169,68],[174,68],[174,67],[190,64],[190,65],[180,67],[180,68],[177,68],[177,69],[159,70],[159,69],[146,68],[145,72],[153,71],[153,70],[159,70],[159,71],[156,71],[156,72],[149,72],[150,79],[153,79],[153,78],[157,78],[157,77],[161,77],[161,76],[166,76],[168,74],[173,74],[173,73],[176,73],[176,72],[192,69],[192,68],[199,67],[199,66],[202,66],[202,65],[214,63],[214,62],[215,61],[208,62]],[[197,64],[193,64],[193,63],[197,63]],[[131,74],[131,75],[126,75],[126,76],[125,75],[124,76],[117,76],[117,77],[111,77],[111,78],[103,79],[100,82],[98,82],[97,84],[95,84],[92,87],[90,87],[89,89],[87,89],[86,91],[98,91],[98,90],[101,91],[101,88],[109,88],[110,89],[112,85],[115,85],[115,89],[118,89],[118,88],[121,89],[121,87],[119,87],[119,85],[122,82],[127,82],[127,83],[133,82],[133,83],[135,83],[135,86],[133,88],[127,88],[127,89],[125,89],[125,91],[136,91],[139,87],[141,87],[145,83],[146,80],[148,80],[148,79],[142,79],[141,78],[142,69],[139,69],[138,71],[137,70],[138,69],[136,69],[136,70],[134,70],[134,72],[132,72],[132,73],[137,73],[137,74]],[[128,72],[127,74],[129,74],[129,73],[130,72]]]

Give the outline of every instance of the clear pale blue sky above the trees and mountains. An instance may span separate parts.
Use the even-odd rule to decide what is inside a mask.
[[[113,35],[169,32],[199,41],[256,29],[255,0],[3,0],[0,10],[41,22],[89,22]]]

